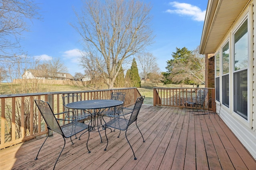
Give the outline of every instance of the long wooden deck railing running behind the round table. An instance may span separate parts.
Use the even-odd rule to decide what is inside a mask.
[[[60,113],[64,111],[61,97],[64,93],[80,93],[82,100],[93,100],[110,99],[110,94],[117,91],[126,92],[124,106],[134,104],[141,96],[137,88],[0,95],[0,149],[47,133],[34,99],[49,102],[54,113]]]

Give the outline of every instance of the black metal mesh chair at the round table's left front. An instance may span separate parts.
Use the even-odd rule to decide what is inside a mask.
[[[48,129],[48,135],[47,135],[46,139],[44,140],[44,143],[47,140],[47,138],[49,137],[49,134],[50,134],[49,131],[50,130],[62,135],[62,137],[64,139],[64,146],[63,146],[63,148],[62,148],[62,150],[61,150],[61,152],[60,152],[60,154],[59,154],[59,156],[58,156],[58,158],[57,158],[57,160],[54,164],[54,168],[55,168],[56,163],[58,162],[58,159],[60,158],[60,155],[61,155],[61,153],[62,153],[62,151],[63,151],[63,149],[66,145],[65,138],[70,138],[72,144],[74,144],[72,139],[71,139],[72,136],[74,136],[77,133],[80,133],[82,131],[84,131],[84,133],[86,131],[88,131],[88,139],[87,139],[87,143],[86,143],[86,147],[88,149],[88,140],[89,140],[89,137],[90,137],[90,131],[89,131],[90,126],[89,125],[86,125],[82,122],[79,122],[78,119],[72,119],[72,120],[70,120],[70,119],[58,119],[58,118],[56,118],[56,115],[63,114],[63,112],[54,114],[53,111],[52,111],[52,108],[50,107],[48,102],[44,102],[42,100],[34,100],[34,101],[35,101],[36,106],[38,107],[42,117],[44,118],[44,121],[45,121],[45,123],[47,125],[47,129]],[[69,111],[69,112],[70,112],[70,114],[72,113],[72,111]],[[69,121],[70,123],[60,125],[58,123],[58,121],[64,121],[64,122]],[[82,133],[82,134],[84,134],[84,133]],[[38,151],[38,154],[39,154],[40,150],[42,149],[44,143],[40,147],[40,149]],[[88,153],[90,153],[89,149],[88,149]],[[38,159],[38,154],[36,155],[35,160]]]

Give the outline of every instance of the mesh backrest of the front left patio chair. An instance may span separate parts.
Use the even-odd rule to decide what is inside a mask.
[[[44,102],[42,100],[35,100],[35,103],[36,103],[36,106],[38,107],[42,117],[44,118],[47,128],[56,133],[62,134],[60,125],[59,125],[49,103]]]

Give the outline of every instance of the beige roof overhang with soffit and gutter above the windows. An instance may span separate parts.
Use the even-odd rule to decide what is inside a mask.
[[[248,0],[209,0],[200,43],[200,54],[214,53]]]

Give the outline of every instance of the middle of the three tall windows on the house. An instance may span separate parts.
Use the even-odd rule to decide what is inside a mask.
[[[222,47],[222,104],[229,107],[229,42]]]

